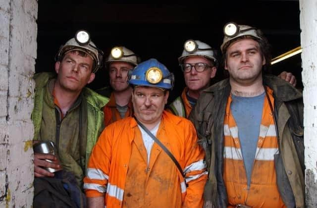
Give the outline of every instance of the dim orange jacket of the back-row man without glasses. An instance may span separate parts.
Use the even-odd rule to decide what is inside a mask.
[[[121,119],[119,111],[116,108],[115,98],[113,93],[111,93],[110,100],[104,107],[104,114],[105,114],[105,126],[108,126],[114,121]],[[126,118],[128,116],[132,116],[132,114],[133,114],[133,108],[132,108],[132,102],[130,100],[130,102],[128,103],[128,109],[124,117]]]

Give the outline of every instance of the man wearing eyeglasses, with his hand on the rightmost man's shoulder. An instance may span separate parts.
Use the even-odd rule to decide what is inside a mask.
[[[184,72],[186,87],[181,96],[168,105],[167,111],[188,118],[201,92],[211,85],[211,79],[216,75],[217,57],[215,50],[208,44],[188,40],[178,62]],[[283,71],[279,77],[295,87],[296,78],[292,73]]]

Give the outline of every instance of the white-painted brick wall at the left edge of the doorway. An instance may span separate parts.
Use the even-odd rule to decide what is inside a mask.
[[[37,0],[0,0],[0,207],[33,201]]]

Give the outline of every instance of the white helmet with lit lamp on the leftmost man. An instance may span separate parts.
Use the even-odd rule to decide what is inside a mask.
[[[55,56],[55,61],[60,61],[61,57],[70,51],[82,51],[90,55],[96,64],[92,72],[95,73],[102,67],[103,52],[99,50],[96,45],[90,40],[90,35],[85,30],[79,30],[76,32],[75,37],[68,40]]]

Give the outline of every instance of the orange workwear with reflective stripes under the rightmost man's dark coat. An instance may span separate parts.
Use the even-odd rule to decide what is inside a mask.
[[[270,102],[274,103],[273,91],[268,87],[266,90]],[[274,155],[278,154],[278,140],[268,99],[264,97],[260,134],[257,144],[254,144],[257,145],[257,151],[250,187],[242,157],[238,126],[230,110],[231,102],[230,95],[223,122],[223,181],[227,190],[228,208],[234,208],[238,204],[253,208],[285,208],[276,182]]]

